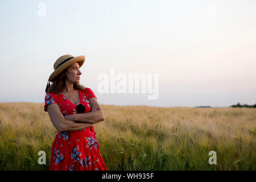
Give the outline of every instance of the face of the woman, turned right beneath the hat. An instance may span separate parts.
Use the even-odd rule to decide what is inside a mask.
[[[67,80],[73,83],[79,83],[80,82],[80,75],[82,73],[79,70],[79,64],[74,63],[70,67],[68,67],[67,72],[65,73],[67,76]]]

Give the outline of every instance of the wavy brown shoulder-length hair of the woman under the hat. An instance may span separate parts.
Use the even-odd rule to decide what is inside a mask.
[[[65,80],[66,80],[66,77],[67,77],[65,75],[65,73],[67,72],[67,69],[68,68],[66,68],[63,72],[61,72],[53,80],[53,84],[49,86],[49,88],[47,89],[47,93],[51,92],[51,93],[58,94],[58,93],[60,93],[65,88]],[[76,90],[84,90],[85,86],[76,83],[76,84],[73,84],[73,88],[76,89]]]

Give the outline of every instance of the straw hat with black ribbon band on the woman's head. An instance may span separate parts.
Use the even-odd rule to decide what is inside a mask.
[[[46,86],[46,92],[48,87],[50,86],[49,82],[53,82],[53,80],[62,72],[64,71],[64,69],[68,68],[70,65],[78,62],[79,63],[79,67],[82,66],[82,64],[84,64],[85,61],[85,56],[77,56],[77,57],[73,57],[72,55],[63,55],[60,56],[54,63],[53,68],[54,71],[52,72],[51,76],[49,76],[48,82],[47,82],[47,86]]]

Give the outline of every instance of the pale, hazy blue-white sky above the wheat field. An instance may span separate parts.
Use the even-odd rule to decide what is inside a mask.
[[[256,103],[255,0],[1,0],[0,23],[0,102],[44,102],[53,64],[71,54],[86,56],[81,84],[100,104]],[[158,73],[158,99],[99,93],[110,69]]]

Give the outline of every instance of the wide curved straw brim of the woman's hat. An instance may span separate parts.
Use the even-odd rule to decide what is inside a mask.
[[[53,80],[56,78],[56,76],[58,76],[61,72],[64,71],[64,69],[68,68],[70,65],[78,62],[79,63],[79,67],[81,68],[82,64],[84,64],[85,61],[85,56],[77,56],[74,57],[70,60],[68,60],[66,63],[60,65],[59,68],[55,69],[54,72],[52,72],[51,76],[49,76],[49,81],[53,82]]]

